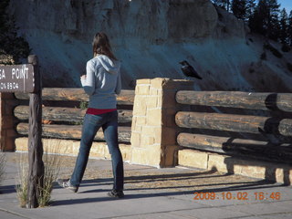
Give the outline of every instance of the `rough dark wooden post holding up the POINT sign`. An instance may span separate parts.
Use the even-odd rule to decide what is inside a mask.
[[[44,162],[42,145],[42,86],[35,55],[28,57],[28,63],[34,66],[35,92],[29,94],[29,132],[28,132],[28,184],[27,207],[36,208],[40,189],[43,187]]]

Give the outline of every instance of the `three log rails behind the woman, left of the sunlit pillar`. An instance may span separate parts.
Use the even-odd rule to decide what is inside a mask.
[[[16,93],[21,104],[16,106],[14,114],[19,120],[16,131],[27,136],[28,105],[26,93]],[[83,89],[43,89],[43,133],[45,138],[80,140],[82,120],[86,109],[82,104],[89,100]],[[130,142],[130,124],[134,90],[122,90],[117,97],[119,112],[119,141]],[[102,130],[99,130],[95,141],[104,141]]]

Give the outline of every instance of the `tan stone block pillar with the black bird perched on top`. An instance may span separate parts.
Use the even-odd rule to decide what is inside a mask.
[[[137,80],[130,139],[131,163],[155,167],[177,164],[176,136],[180,129],[174,117],[183,105],[176,103],[175,94],[182,89],[193,89],[193,81]]]

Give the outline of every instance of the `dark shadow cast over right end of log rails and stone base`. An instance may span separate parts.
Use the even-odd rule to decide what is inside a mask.
[[[236,162],[236,157],[229,157],[224,159],[227,172],[236,173],[235,165],[240,164],[245,166],[255,166],[255,161],[264,161],[261,164],[256,164],[257,168],[265,168],[265,179],[271,183],[277,182],[276,165],[284,164],[282,169],[282,182],[285,185],[291,184],[290,181],[290,169],[291,169],[291,156],[292,156],[292,138],[291,136],[285,136],[280,131],[280,123],[282,120],[292,117],[291,112],[281,110],[277,106],[278,95],[272,93],[265,99],[265,105],[267,110],[270,111],[270,117],[265,121],[263,129],[258,127],[258,131],[266,140],[266,145],[253,145],[253,144],[238,144],[233,142],[235,138],[230,138],[223,143],[223,150],[227,153],[230,152],[230,148],[237,151],[237,154],[245,155],[245,163]],[[282,131],[286,131],[287,128],[282,128]],[[240,151],[241,148],[245,148],[245,151]],[[247,149],[247,151],[246,151]],[[247,159],[246,159],[247,158]],[[254,161],[248,158],[254,159]],[[264,164],[266,163],[266,164]],[[255,167],[256,168],[256,167]]]

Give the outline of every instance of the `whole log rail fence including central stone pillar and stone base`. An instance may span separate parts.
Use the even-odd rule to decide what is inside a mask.
[[[153,78],[138,80],[135,91],[122,90],[118,96],[119,141],[125,161],[157,167],[214,167],[292,182],[291,94],[192,89],[191,81]],[[16,98],[21,103],[14,110],[16,130],[27,136],[28,96],[16,93]],[[68,154],[75,154],[85,114],[80,105],[88,96],[83,89],[43,89],[42,99],[42,136],[64,139],[64,145],[71,148]],[[101,142],[94,142],[92,152],[108,158],[100,132],[95,140]],[[19,150],[25,151],[21,145],[26,138],[17,140]]]

